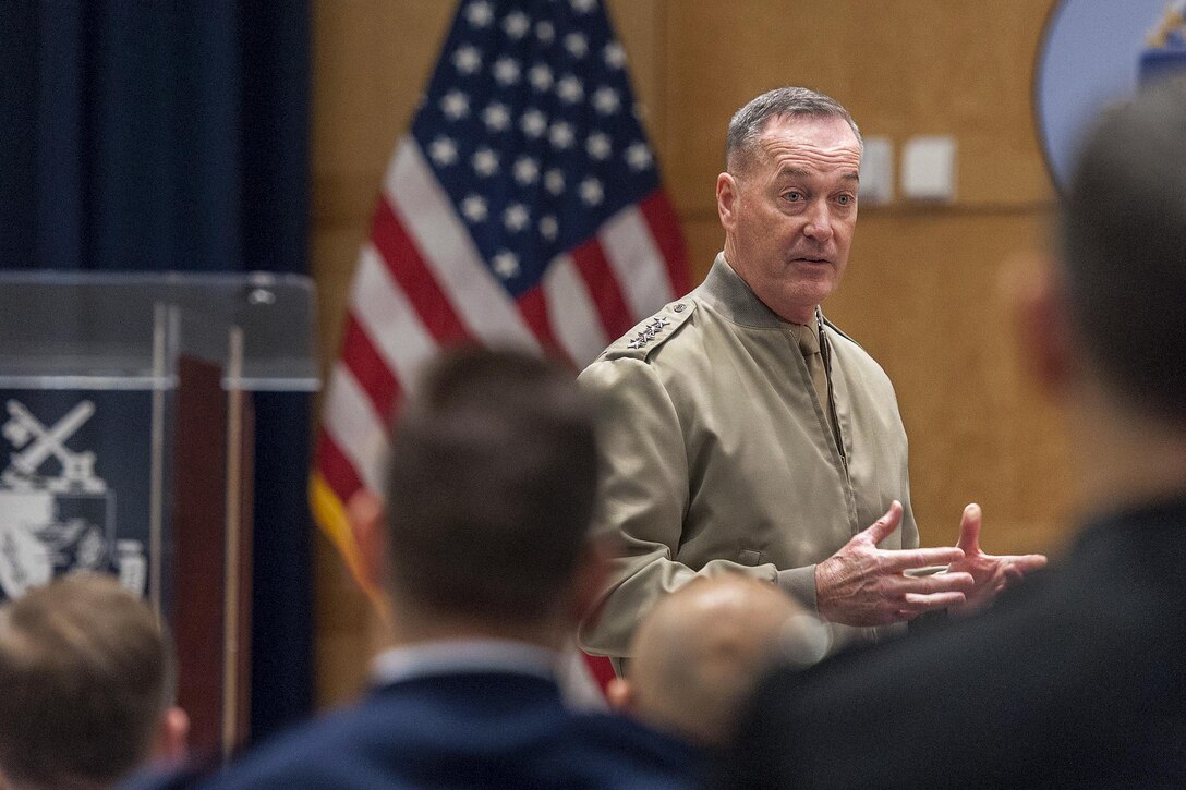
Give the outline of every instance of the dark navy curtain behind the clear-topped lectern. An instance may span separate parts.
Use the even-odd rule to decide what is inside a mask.
[[[0,267],[307,270],[307,0],[0,0]],[[310,709],[308,399],[256,396],[253,739]]]

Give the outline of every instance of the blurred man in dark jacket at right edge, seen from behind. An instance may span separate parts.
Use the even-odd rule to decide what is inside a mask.
[[[1018,314],[1066,407],[1075,544],[978,617],[780,670],[722,786],[1186,786],[1186,84],[1101,117],[1057,259]]]

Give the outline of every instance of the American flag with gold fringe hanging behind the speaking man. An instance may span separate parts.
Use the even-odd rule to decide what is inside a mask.
[[[463,0],[383,179],[324,403],[314,514],[359,580],[344,503],[438,349],[574,369],[688,289],[683,241],[598,0]]]

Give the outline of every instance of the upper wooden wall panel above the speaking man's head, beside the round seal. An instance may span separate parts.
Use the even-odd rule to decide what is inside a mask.
[[[669,2],[661,129],[677,206],[712,210],[725,127],[770,88],[833,95],[863,134],[958,139],[959,203],[1051,197],[1029,84],[1048,0]]]

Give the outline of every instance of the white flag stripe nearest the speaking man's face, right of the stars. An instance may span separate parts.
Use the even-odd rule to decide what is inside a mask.
[[[621,292],[635,320],[646,318],[675,299],[663,254],[637,205],[610,217],[598,231],[598,241],[618,282],[623,283]]]

